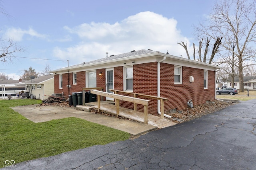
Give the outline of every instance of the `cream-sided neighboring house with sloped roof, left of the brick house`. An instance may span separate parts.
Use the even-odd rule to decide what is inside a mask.
[[[40,76],[23,82],[26,84],[26,91],[29,95],[36,96],[36,99],[47,99],[54,93],[54,75]]]

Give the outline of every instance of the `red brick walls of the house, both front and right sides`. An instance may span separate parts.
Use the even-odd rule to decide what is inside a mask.
[[[208,71],[208,89],[204,89],[204,70],[191,67],[182,67],[182,84],[174,84],[174,65],[160,63],[160,96],[168,98],[164,102],[165,112],[170,109],[187,108],[188,100],[192,99],[194,105],[205,103],[207,100],[215,98],[215,72]],[[102,75],[98,75],[102,72]],[[123,66],[114,68],[114,89],[124,90]],[[97,87],[105,86],[105,69],[98,69]],[[194,82],[189,82],[189,76],[194,77]],[[71,84],[70,94],[72,92],[80,92],[85,87],[85,71],[77,72],[77,85],[72,84],[72,73],[69,73],[69,81]],[[54,75],[55,93],[64,92],[64,96],[68,96],[68,74],[63,74],[63,89],[59,89],[59,75]],[[133,92],[157,96],[157,62],[134,64],[133,65]],[[146,98],[145,98],[146,99]],[[105,100],[105,98],[104,98]],[[148,99],[147,99],[148,100]],[[120,101],[120,106],[133,109],[133,104]],[[137,106],[138,110],[143,111],[143,106]],[[150,100],[148,113],[157,114],[157,100]]]

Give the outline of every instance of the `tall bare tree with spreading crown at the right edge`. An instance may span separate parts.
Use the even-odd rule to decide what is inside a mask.
[[[198,35],[216,39],[222,36],[222,47],[238,59],[240,92],[244,92],[243,70],[246,61],[255,62],[256,42],[256,2],[255,0],[216,1],[209,15],[210,24],[196,27]],[[232,44],[236,48],[232,49]],[[252,62],[252,63],[254,63]]]

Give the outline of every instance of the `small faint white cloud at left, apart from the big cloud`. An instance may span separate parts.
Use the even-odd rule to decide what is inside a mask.
[[[10,27],[4,33],[5,38],[12,38],[14,41],[22,41],[24,35],[30,35],[37,38],[46,38],[47,35],[36,32],[31,27],[27,30],[21,28]]]

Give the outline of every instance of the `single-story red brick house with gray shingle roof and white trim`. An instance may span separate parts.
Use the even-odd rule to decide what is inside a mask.
[[[215,100],[215,71],[220,68],[148,49],[111,55],[52,73],[54,93],[68,96],[84,87],[103,87],[105,92],[115,89],[160,96],[168,98],[164,102],[164,111],[168,112],[187,108],[190,99],[194,105]],[[133,104],[124,102],[120,106],[133,108]],[[160,104],[151,100],[148,113],[156,115],[159,111]]]

